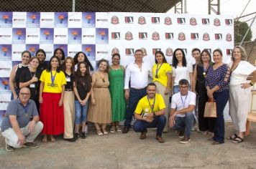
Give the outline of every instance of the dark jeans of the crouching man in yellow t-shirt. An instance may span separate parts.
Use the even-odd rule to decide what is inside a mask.
[[[133,125],[135,132],[145,132],[147,128],[157,127],[157,135],[162,136],[163,129],[165,127],[166,117],[165,115],[156,116],[152,122],[145,120],[136,120]]]

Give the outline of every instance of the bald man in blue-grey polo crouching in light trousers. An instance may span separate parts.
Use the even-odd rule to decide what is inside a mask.
[[[6,110],[1,123],[1,132],[5,138],[6,150],[14,148],[38,148],[34,142],[42,131],[42,122],[39,121],[37,106],[33,100],[29,100],[30,90],[23,87],[19,92],[19,98],[12,100]],[[33,117],[32,121],[29,121]],[[9,147],[9,146],[11,147]]]

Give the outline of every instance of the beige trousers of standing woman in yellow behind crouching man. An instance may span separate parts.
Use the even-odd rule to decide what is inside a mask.
[[[163,84],[160,84],[160,82],[154,82],[157,86],[157,93],[163,96],[163,100],[165,101],[165,117],[166,117],[166,123],[165,128],[163,129],[164,132],[168,132],[168,122],[169,122],[169,94],[165,95],[165,86]]]

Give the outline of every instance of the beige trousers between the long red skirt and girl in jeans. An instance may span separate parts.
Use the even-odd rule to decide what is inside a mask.
[[[65,91],[64,106],[64,138],[73,138],[75,122],[75,95],[73,91]]]

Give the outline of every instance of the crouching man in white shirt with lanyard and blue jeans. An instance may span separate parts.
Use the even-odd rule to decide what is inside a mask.
[[[196,107],[196,94],[188,91],[188,80],[180,79],[180,92],[172,97],[169,125],[178,130],[180,143],[188,143],[191,138],[191,128],[194,122],[194,110]]]

